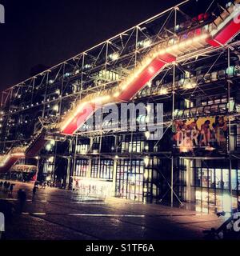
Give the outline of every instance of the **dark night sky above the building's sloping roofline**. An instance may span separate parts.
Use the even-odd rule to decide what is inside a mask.
[[[6,9],[6,24],[0,24],[0,90],[29,78],[33,66],[54,66],[178,2],[0,0]]]

